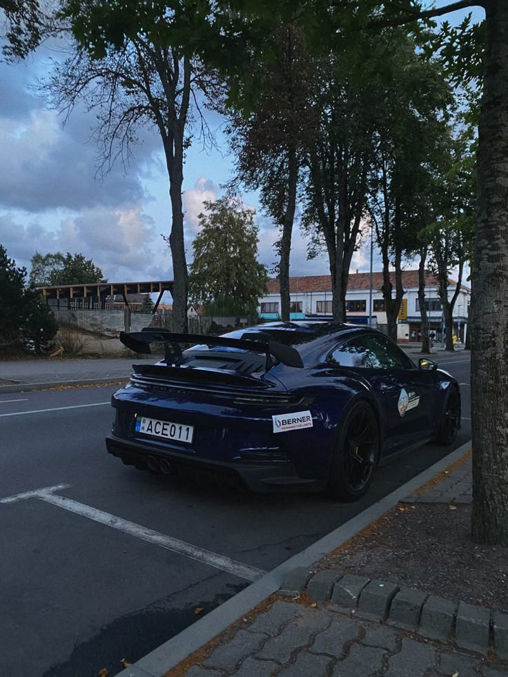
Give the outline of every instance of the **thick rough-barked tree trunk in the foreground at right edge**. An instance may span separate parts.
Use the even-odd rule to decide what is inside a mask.
[[[473,538],[508,544],[508,3],[485,2],[471,415]]]

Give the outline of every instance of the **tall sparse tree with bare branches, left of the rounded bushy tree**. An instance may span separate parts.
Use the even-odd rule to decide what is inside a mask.
[[[84,30],[84,29],[83,29]],[[172,34],[173,35],[173,34]],[[84,101],[95,112],[95,136],[101,144],[103,168],[128,159],[139,126],[155,128],[164,148],[169,179],[171,225],[168,237],[173,262],[173,328],[186,331],[188,275],[184,244],[182,183],[184,155],[190,145],[193,111],[200,115],[199,92],[207,81],[201,64],[180,46],[180,36],[161,46],[139,32],[118,47],[98,50],[93,59],[84,50],[56,66],[46,91],[52,104],[67,113]],[[194,106],[191,106],[191,99]],[[208,128],[203,122],[202,129]]]

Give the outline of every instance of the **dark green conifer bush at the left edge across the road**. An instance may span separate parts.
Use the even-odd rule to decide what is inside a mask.
[[[0,349],[19,349],[32,341],[35,351],[55,336],[55,315],[25,286],[26,268],[18,268],[0,245]]]

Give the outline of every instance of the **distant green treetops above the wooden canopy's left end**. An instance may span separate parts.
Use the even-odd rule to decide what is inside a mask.
[[[31,259],[30,284],[55,286],[57,284],[95,284],[106,282],[100,268],[82,254],[60,252],[45,255],[36,252]]]

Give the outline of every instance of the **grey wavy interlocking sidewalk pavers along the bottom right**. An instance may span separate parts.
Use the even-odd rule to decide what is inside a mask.
[[[277,600],[186,677],[502,677],[508,664],[350,618],[337,607]]]

